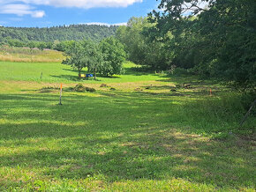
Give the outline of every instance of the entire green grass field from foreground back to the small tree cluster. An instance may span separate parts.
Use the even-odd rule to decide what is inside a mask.
[[[78,81],[60,63],[0,62],[0,191],[255,191],[256,118],[239,128],[240,94],[132,67]]]

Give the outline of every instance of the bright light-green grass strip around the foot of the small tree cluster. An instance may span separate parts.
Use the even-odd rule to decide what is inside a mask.
[[[136,81],[150,81],[160,78],[160,75],[149,74],[146,72],[132,74],[133,63],[124,63],[125,75],[113,76],[109,78],[97,77],[88,80],[80,80],[84,83],[124,83]],[[86,73],[87,71],[83,71]],[[41,78],[42,74],[42,78]],[[17,81],[40,81],[40,82],[78,82],[78,72],[70,66],[61,63],[10,63],[0,62],[0,80]]]

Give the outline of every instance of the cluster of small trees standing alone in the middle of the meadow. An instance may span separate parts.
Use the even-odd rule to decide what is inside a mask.
[[[87,69],[87,72],[112,76],[121,74],[126,54],[124,45],[115,39],[109,37],[96,43],[90,40],[72,41],[64,51],[66,59],[63,64],[71,65],[72,68],[79,71]]]

